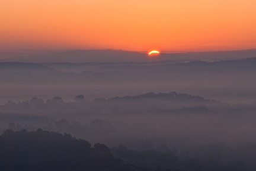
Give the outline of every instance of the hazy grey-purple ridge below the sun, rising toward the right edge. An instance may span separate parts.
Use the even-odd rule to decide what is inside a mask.
[[[239,60],[226,60],[219,62],[189,62],[189,63],[175,63],[175,64],[160,64],[151,66],[140,66],[127,64],[126,66],[104,66],[98,71],[116,71],[129,73],[173,73],[173,72],[198,72],[200,74],[205,72],[219,73],[222,72],[256,72],[256,57]]]

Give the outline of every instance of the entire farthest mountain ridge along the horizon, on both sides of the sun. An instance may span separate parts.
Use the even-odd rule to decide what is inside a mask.
[[[1,59],[0,62],[149,62],[161,60],[231,60],[256,57],[256,49],[236,51],[210,51],[187,53],[161,53],[158,57],[148,57],[146,53],[124,50],[73,50],[58,53],[34,54]]]

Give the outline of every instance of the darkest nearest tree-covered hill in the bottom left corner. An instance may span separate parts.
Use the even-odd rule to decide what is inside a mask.
[[[70,134],[6,130],[0,137],[0,170],[142,170],[123,164],[104,144]]]

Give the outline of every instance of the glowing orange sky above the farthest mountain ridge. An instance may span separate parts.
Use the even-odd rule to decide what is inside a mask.
[[[0,1],[0,50],[256,48],[255,0]]]

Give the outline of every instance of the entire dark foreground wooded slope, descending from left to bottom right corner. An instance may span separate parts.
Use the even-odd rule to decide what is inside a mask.
[[[218,162],[210,157],[219,146],[213,145],[207,151],[209,156],[196,159],[189,151],[179,153],[165,145],[152,148],[145,141],[142,151],[130,150],[120,145],[111,150],[104,144],[96,143],[92,147],[88,141],[76,139],[70,134],[26,130],[6,130],[0,135],[1,171],[247,171],[245,163]],[[217,147],[217,149],[216,149]],[[228,150],[228,149],[226,149]],[[202,151],[201,151],[202,152]],[[219,152],[217,152],[220,155]],[[220,155],[221,156],[221,155]],[[219,156],[219,157],[220,157]],[[210,158],[209,158],[210,157]],[[220,157],[221,158],[221,157]],[[220,160],[221,161],[221,160]]]

